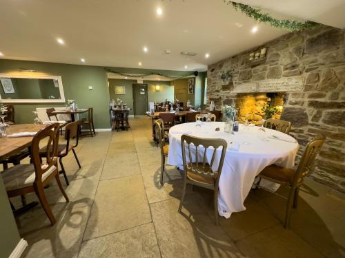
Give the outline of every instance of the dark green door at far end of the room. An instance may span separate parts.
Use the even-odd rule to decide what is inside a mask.
[[[133,84],[133,111],[135,116],[145,116],[148,111],[148,85]]]

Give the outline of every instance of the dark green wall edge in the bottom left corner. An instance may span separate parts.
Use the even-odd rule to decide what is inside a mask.
[[[0,257],[9,257],[19,243],[20,237],[1,176],[0,214]]]

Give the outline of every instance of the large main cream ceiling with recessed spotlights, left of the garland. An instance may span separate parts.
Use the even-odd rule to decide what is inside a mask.
[[[284,13],[278,2],[284,3],[276,0],[271,9]],[[202,71],[286,33],[259,24],[252,34],[257,23],[223,0],[0,0],[0,5],[1,58],[30,61],[83,64],[85,58],[85,65]],[[57,43],[59,37],[65,45]]]

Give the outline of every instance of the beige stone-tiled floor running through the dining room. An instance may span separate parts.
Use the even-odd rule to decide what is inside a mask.
[[[72,154],[65,158],[70,203],[52,184],[46,195],[57,224],[50,226],[40,206],[20,218],[29,244],[23,257],[345,257],[342,193],[306,179],[290,230],[282,226],[286,202],[262,190],[249,194],[246,211],[215,226],[212,192],[188,189],[181,215],[181,175],[170,166],[159,185],[150,119],[130,124],[129,131],[82,138],[82,169]]]

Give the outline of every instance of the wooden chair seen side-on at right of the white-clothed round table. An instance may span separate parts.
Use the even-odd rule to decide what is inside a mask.
[[[262,188],[266,191],[274,193],[269,189],[266,189],[264,186],[260,186],[260,181],[262,178],[269,180],[271,182],[275,182],[278,184],[282,184],[288,186],[290,191],[288,193],[288,198],[283,195],[278,195],[287,199],[287,206],[286,206],[286,214],[285,214],[285,222],[284,228],[289,228],[290,226],[290,217],[292,208],[297,208],[297,200],[298,200],[298,193],[299,187],[303,184],[303,178],[308,175],[313,169],[313,162],[319,153],[319,149],[324,144],[324,136],[317,136],[315,140],[312,140],[306,145],[306,149],[302,155],[302,158],[297,166],[297,169],[286,169],[281,166],[276,166],[275,164],[266,166],[266,168],[259,173],[259,182],[255,184],[257,188]]]

